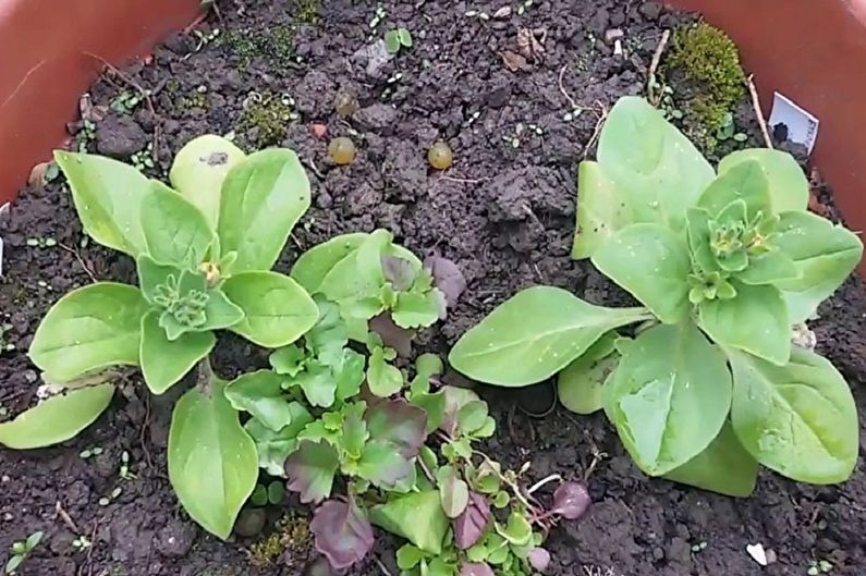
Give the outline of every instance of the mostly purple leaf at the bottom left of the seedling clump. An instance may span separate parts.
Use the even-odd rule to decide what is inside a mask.
[[[316,508],[309,530],[334,571],[359,562],[373,548],[373,526],[354,500],[329,500]]]

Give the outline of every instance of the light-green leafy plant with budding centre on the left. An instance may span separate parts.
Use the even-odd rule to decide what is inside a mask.
[[[169,477],[190,515],[227,538],[256,486],[257,453],[208,355],[216,330],[277,347],[316,323],[307,292],[270,271],[309,207],[307,176],[291,150],[245,156],[217,136],[178,154],[175,189],[107,158],[54,157],[84,231],[135,260],[138,287],[97,282],[49,309],[29,357],[56,394],[0,425],[0,444],[74,437],[106,409],[122,367],[139,367],[162,394],[198,365],[196,385],[174,406]]]

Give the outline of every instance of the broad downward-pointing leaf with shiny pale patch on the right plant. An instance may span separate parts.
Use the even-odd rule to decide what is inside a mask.
[[[655,326],[619,347],[605,410],[637,466],[667,474],[706,450],[728,417],[724,355],[692,322]]]

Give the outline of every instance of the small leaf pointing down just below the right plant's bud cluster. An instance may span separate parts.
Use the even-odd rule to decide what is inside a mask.
[[[791,352],[791,320],[781,293],[772,286],[734,283],[732,299],[702,302],[700,328],[719,344],[784,365]]]

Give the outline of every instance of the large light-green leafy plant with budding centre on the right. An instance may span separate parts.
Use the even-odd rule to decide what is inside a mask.
[[[611,110],[578,173],[573,257],[643,308],[527,289],[461,338],[466,376],[523,387],[558,375],[570,409],[603,407],[650,476],[752,493],[763,464],[797,481],[847,479],[856,406],[833,366],[792,345],[859,261],[855,234],[808,212],[797,163],[734,152],[718,172],[637,97]],[[618,329],[639,323],[633,338]]]

